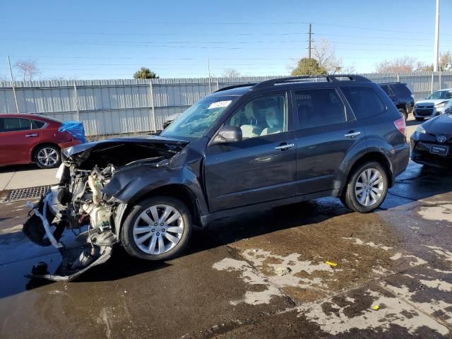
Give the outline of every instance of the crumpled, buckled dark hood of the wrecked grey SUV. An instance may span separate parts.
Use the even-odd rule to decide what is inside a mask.
[[[92,169],[95,165],[109,163],[119,167],[150,157],[172,157],[188,143],[164,136],[138,136],[83,143],[65,148],[62,153],[64,161],[73,162],[80,168]]]

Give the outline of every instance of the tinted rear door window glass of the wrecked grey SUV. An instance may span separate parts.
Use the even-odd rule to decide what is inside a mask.
[[[299,129],[347,121],[343,101],[333,88],[296,90],[294,100]]]

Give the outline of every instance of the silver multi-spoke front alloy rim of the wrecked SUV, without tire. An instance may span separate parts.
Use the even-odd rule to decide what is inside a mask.
[[[169,205],[143,210],[133,225],[133,240],[146,254],[164,254],[179,244],[184,234],[181,213]]]

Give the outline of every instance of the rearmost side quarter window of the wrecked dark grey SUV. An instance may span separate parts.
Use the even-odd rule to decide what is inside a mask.
[[[347,86],[340,88],[357,119],[376,117],[386,112],[386,104],[374,88]]]

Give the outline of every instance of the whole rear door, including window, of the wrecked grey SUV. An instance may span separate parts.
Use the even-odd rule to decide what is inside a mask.
[[[334,178],[364,129],[334,87],[294,90],[297,117],[297,194],[335,189]]]

